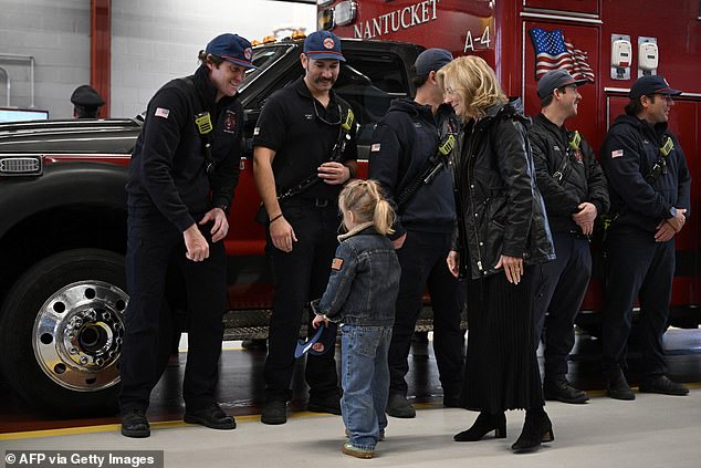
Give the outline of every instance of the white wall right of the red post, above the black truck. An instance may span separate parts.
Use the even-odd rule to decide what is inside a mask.
[[[191,74],[197,54],[223,32],[249,40],[294,27],[314,31],[316,8],[280,1],[119,0],[112,2],[112,116],[133,117],[167,81]]]

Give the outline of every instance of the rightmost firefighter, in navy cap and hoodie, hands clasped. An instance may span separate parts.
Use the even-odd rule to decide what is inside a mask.
[[[606,253],[606,306],[601,336],[611,398],[635,399],[624,375],[632,305],[640,303],[640,392],[687,395],[668,376],[662,334],[674,277],[674,237],[689,218],[691,177],[684,153],[668,129],[672,96],[659,75],[638,79],[626,113],[611,125],[599,154],[610,187],[611,225]]]

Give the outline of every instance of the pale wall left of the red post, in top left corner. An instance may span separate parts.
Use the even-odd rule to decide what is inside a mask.
[[[90,1],[0,0],[0,67],[10,76],[10,105],[31,105],[30,62],[34,58],[34,105],[50,117],[73,115],[73,90],[90,83]],[[0,72],[0,106],[7,105]]]

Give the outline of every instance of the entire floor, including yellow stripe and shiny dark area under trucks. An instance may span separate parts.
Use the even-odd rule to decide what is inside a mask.
[[[598,342],[579,336],[573,353],[571,379],[589,392],[586,405],[548,402],[555,440],[535,454],[513,455],[510,445],[523,423],[522,412],[508,414],[508,438],[488,437],[458,444],[452,435],[469,427],[475,413],[440,405],[435,356],[430,345],[415,344],[407,376],[416,419],[389,418],[387,440],[380,443],[376,466],[430,467],[701,467],[701,330],[670,330],[665,336],[670,375],[691,387],[687,397],[638,394],[635,402],[604,396],[598,370]],[[631,385],[639,364],[631,353]],[[344,443],[341,417],[306,413],[306,387],[300,362],[286,425],[259,422],[264,351],[245,351],[224,343],[219,399],[239,427],[217,431],[185,425],[179,367],[170,367],[155,388],[148,439],[119,435],[116,417],[60,420],[28,407],[0,382],[0,455],[4,450],[164,450],[165,467],[328,467],[360,462],[339,451]],[[4,460],[3,460],[4,464]],[[3,465],[10,467],[10,465]],[[18,466],[18,465],[14,465]]]

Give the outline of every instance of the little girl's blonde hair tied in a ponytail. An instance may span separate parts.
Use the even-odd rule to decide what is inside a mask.
[[[355,219],[360,222],[373,222],[377,232],[393,233],[396,215],[389,201],[383,195],[379,184],[375,180],[353,180],[348,183],[338,196],[341,210],[353,211]]]

